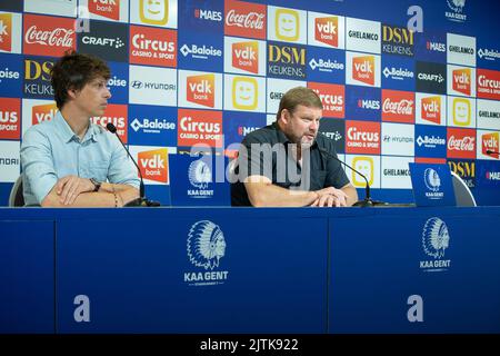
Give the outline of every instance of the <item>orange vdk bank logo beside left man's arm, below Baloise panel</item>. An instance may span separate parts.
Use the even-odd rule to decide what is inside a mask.
[[[137,161],[144,179],[162,184],[169,182],[167,148],[139,152]]]

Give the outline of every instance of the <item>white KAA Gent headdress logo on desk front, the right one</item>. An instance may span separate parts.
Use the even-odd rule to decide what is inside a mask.
[[[422,229],[422,247],[431,260],[421,260],[420,269],[424,271],[443,271],[450,268],[450,259],[442,259],[450,246],[448,226],[438,217],[429,218]]]

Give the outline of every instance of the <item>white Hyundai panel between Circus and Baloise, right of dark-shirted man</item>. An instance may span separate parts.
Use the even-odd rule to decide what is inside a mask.
[[[382,155],[413,156],[414,126],[382,122]]]

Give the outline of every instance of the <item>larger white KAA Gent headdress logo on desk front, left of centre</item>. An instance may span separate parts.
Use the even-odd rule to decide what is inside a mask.
[[[188,234],[187,248],[191,264],[206,271],[184,273],[184,283],[190,286],[209,286],[223,284],[228,279],[228,270],[213,270],[226,256],[226,239],[218,225],[210,220],[194,222]]]

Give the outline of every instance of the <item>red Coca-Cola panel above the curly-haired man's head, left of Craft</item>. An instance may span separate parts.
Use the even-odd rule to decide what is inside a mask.
[[[76,49],[74,20],[24,14],[24,55],[62,56]]]

